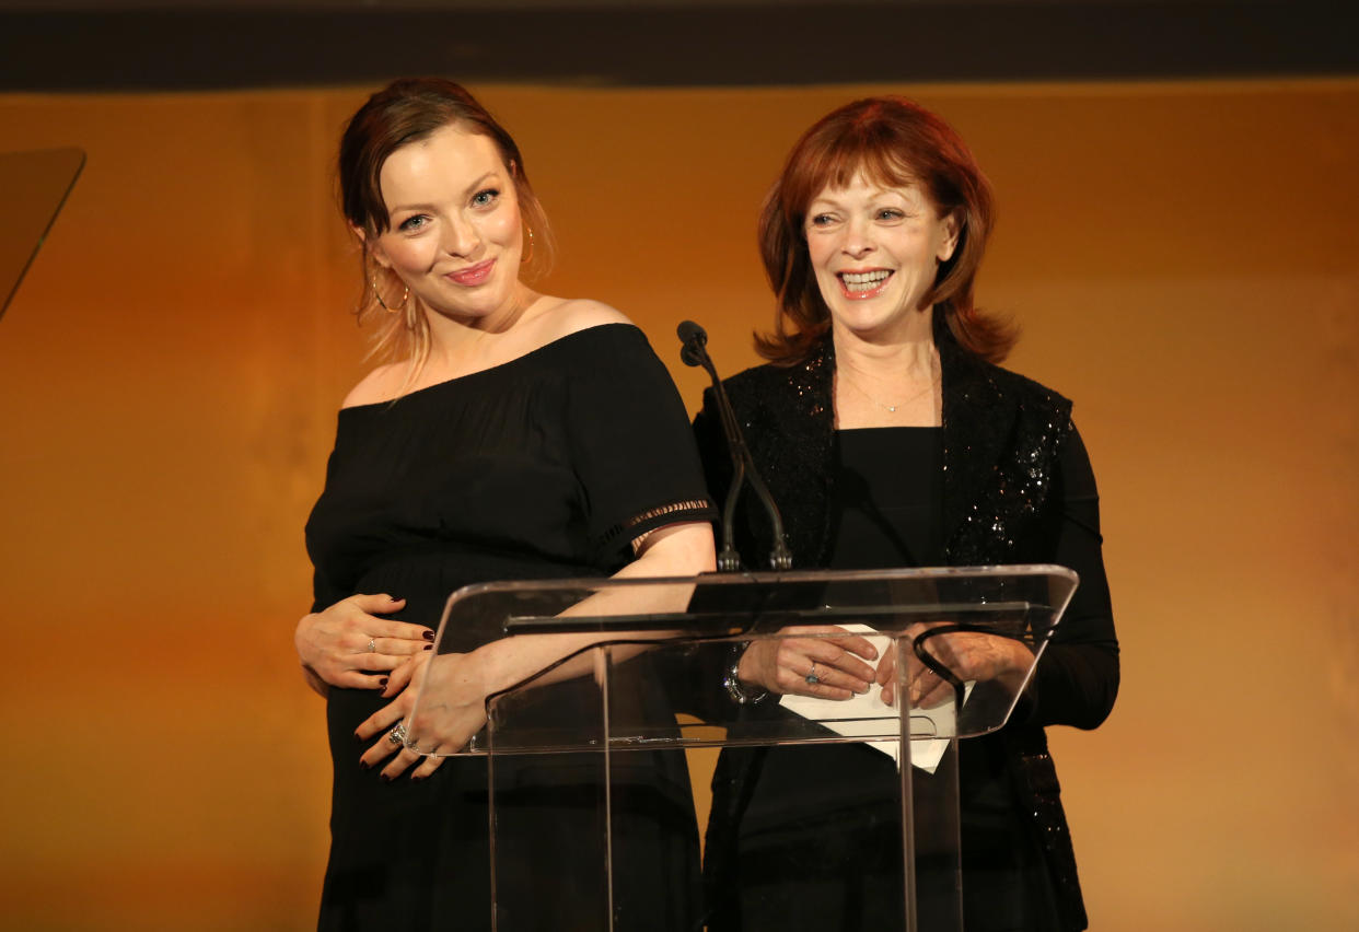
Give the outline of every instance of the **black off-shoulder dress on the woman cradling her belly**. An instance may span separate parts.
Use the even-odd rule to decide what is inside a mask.
[[[394,404],[340,412],[307,522],[315,607],[387,592],[406,599],[394,618],[434,628],[462,586],[609,575],[648,530],[711,518],[665,367],[636,327],[590,327]],[[659,690],[639,702],[666,713]],[[489,928],[485,762],[453,758],[425,781],[383,783],[359,766],[367,746],[353,738],[383,704],[376,690],[332,689],[328,700],[334,789],[319,928]],[[693,928],[697,829],[684,759],[637,753],[631,765],[614,797],[621,928]],[[579,755],[510,768],[501,780],[497,765],[496,804],[515,868],[497,898],[516,928],[572,928],[597,889],[582,841],[598,831],[598,770]]]

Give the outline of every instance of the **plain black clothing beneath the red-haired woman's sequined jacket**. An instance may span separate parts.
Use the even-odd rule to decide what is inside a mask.
[[[832,568],[942,562],[942,444],[940,428],[834,432]],[[1112,640],[1094,474],[1075,429],[1057,474],[1064,519],[1052,561],[1082,572],[1068,615],[1083,637]],[[1076,677],[1071,686],[1097,690],[1099,682]],[[1053,698],[1060,706],[1063,698]],[[1025,708],[1033,713],[1036,705]],[[966,928],[1057,928],[1052,882],[1004,773],[1003,749],[993,739],[972,739],[959,743],[959,755]],[[930,792],[928,776],[916,773],[915,780],[917,791]],[[737,841],[741,918],[728,914],[715,928],[898,928],[902,903],[883,895],[900,890],[901,875],[897,776],[887,757],[859,745],[776,747],[749,792]],[[919,819],[930,817],[916,812]],[[923,916],[934,908],[930,870],[917,863]],[[947,895],[951,875],[945,870],[940,878]]]

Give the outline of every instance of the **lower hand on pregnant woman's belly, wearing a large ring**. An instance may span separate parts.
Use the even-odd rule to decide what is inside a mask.
[[[391,758],[382,768],[383,780],[395,780],[412,766],[412,780],[424,780],[438,770],[446,755],[461,750],[487,723],[487,693],[476,667],[469,653],[434,659],[420,653],[394,670],[383,696],[395,698],[353,732],[359,740],[381,735],[359,762],[375,768]],[[427,687],[427,701],[412,717],[421,686]],[[394,731],[398,725],[404,732]],[[416,747],[420,753],[412,750]]]

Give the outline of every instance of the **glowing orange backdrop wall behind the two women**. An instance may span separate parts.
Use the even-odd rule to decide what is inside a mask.
[[[0,95],[88,166],[0,321],[0,925],[313,922],[322,704],[302,524],[361,372],[333,209],[371,88]],[[550,291],[754,361],[787,147],[896,90],[1000,196],[1014,368],[1076,399],[1124,689],[1056,730],[1094,929],[1359,928],[1359,82],[476,90],[553,217]]]

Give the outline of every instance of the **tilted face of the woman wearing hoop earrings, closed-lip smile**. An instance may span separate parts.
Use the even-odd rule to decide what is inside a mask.
[[[390,226],[370,243],[434,314],[470,326],[514,314],[522,224],[496,144],[457,125],[395,149],[379,173]]]

